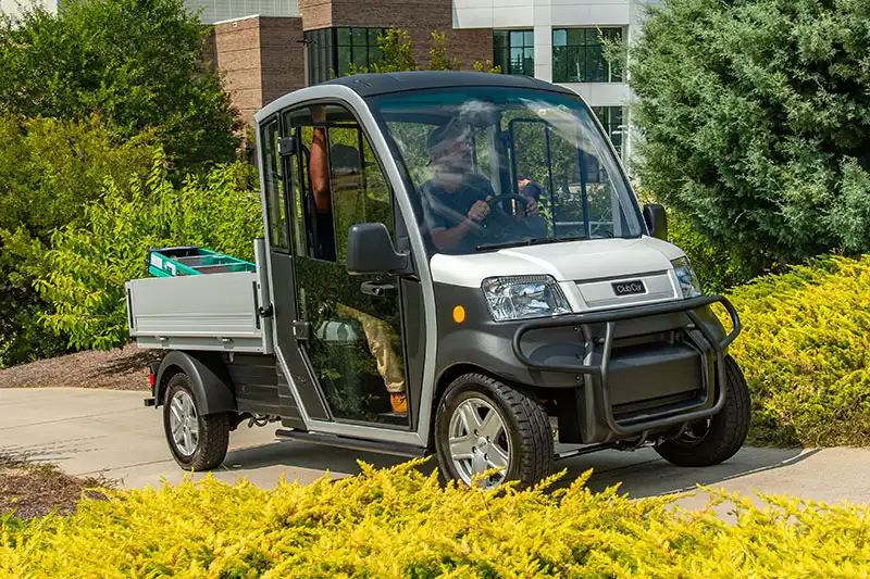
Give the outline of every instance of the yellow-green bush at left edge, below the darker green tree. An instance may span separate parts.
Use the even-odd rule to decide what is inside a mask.
[[[55,228],[82,223],[104,179],[147,172],[148,140],[115,144],[96,117],[0,114],[0,367],[65,350],[66,340],[39,324],[50,307],[32,287],[45,273],[46,246]]]

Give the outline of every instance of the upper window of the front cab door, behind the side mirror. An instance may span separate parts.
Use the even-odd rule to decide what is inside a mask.
[[[353,115],[312,105],[288,113],[287,122],[301,144],[294,169],[297,252],[343,263],[350,226],[380,222],[393,232],[390,190]]]

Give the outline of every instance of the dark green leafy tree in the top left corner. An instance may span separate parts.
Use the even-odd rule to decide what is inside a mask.
[[[153,129],[181,166],[232,160],[240,127],[183,0],[71,0],[0,16],[0,112]]]

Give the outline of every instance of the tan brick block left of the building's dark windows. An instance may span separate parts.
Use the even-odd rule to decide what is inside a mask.
[[[251,16],[216,24],[206,58],[248,124],[276,98],[306,84],[301,18]]]

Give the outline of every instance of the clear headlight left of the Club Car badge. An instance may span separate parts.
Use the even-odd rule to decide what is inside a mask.
[[[481,288],[496,322],[571,312],[564,293],[550,276],[488,277]]]

